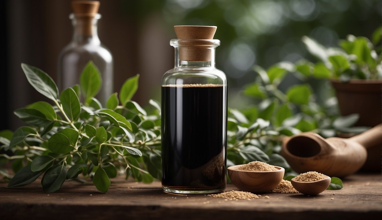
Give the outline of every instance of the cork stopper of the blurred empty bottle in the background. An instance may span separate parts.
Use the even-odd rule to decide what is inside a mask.
[[[92,21],[98,13],[99,5],[99,1],[76,0],[71,2],[76,17],[76,31],[78,34],[92,35]]]

